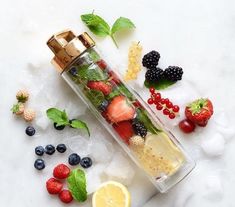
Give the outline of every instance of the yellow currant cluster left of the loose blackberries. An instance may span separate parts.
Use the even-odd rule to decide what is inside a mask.
[[[139,42],[133,42],[128,53],[128,68],[124,76],[125,81],[137,79],[138,72],[141,70],[142,46]]]

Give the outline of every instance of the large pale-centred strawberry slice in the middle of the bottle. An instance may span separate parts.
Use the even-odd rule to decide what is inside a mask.
[[[133,119],[134,115],[135,109],[128,103],[127,98],[123,95],[113,98],[107,107],[108,119],[113,123]]]

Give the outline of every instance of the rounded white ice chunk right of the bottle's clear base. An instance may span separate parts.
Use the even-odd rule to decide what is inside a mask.
[[[224,153],[225,140],[220,133],[215,133],[202,140],[201,147],[203,151],[211,157],[219,156]]]

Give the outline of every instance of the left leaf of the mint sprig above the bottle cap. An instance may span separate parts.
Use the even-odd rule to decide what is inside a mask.
[[[97,36],[105,37],[110,33],[108,23],[96,14],[81,15],[81,20]]]

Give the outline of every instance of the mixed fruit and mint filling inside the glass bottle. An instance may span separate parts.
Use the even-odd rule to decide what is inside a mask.
[[[116,137],[129,147],[150,176],[170,176],[183,165],[181,150],[94,48],[75,60],[62,76],[115,130]]]

